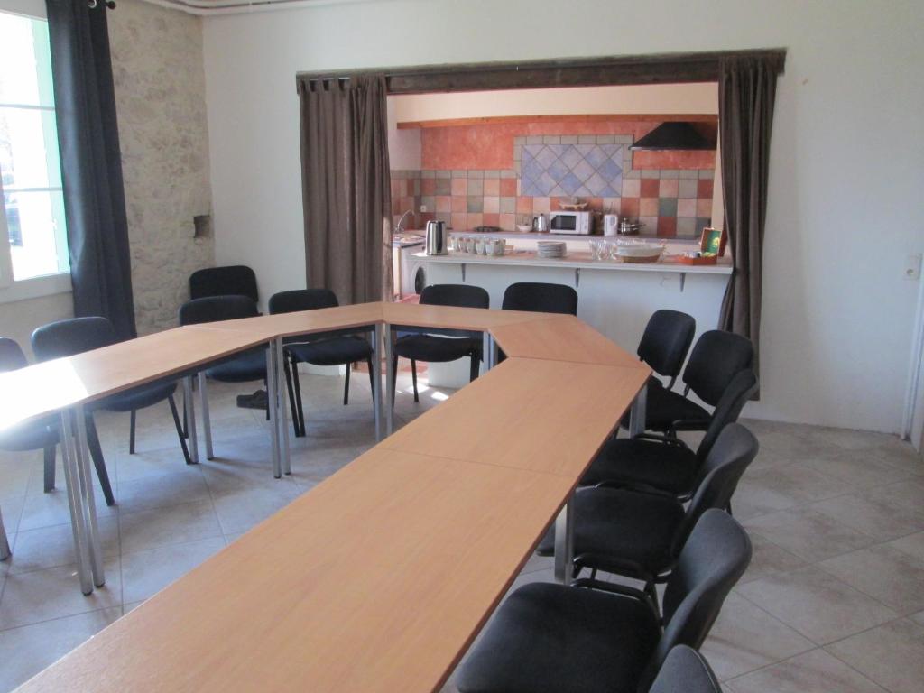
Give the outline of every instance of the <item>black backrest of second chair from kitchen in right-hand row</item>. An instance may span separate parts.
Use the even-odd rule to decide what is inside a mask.
[[[753,360],[754,345],[748,337],[710,330],[693,346],[684,369],[684,383],[703,402],[715,407],[732,378],[750,368]]]

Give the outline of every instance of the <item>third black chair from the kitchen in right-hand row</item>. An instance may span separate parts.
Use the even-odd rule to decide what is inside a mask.
[[[696,490],[696,480],[713,444],[725,426],[734,423],[750,395],[757,390],[754,371],[741,371],[722,395],[712,412],[709,428],[696,452],[687,444],[667,435],[639,433],[633,438],[612,439],[580,480],[581,485],[604,481],[626,486],[656,489],[687,500]]]

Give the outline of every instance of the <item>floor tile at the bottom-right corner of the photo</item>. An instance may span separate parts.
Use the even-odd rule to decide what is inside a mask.
[[[892,693],[924,688],[924,626],[901,619],[829,645],[838,659]]]

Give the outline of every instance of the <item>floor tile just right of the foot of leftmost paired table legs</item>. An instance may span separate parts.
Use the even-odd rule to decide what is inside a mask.
[[[211,501],[124,513],[119,516],[119,527],[125,553],[222,535]]]

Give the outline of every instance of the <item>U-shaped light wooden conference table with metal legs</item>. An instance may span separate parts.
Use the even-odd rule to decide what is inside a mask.
[[[189,385],[203,363],[268,343],[279,439],[274,468],[285,472],[282,339],[368,328],[381,358],[382,345],[390,356],[395,327],[484,332],[486,364],[495,364],[497,346],[508,358],[21,690],[438,690],[554,517],[556,572],[566,580],[568,500],[633,401],[633,425],[644,420],[636,395],[650,375],[577,319],[363,304],[170,330],[101,349],[109,358],[99,362],[90,352],[83,360],[39,364],[30,367],[39,376],[24,369],[16,381],[0,378],[0,386],[27,387],[33,377],[71,372],[72,394],[50,395],[52,405],[26,410],[37,416],[69,407],[64,411],[80,421],[82,407],[104,394],[177,375]],[[158,353],[141,362],[138,354],[148,348]],[[376,375],[377,422],[384,419],[391,432],[391,407],[381,411]],[[25,418],[0,410],[3,425]],[[82,426],[76,428],[79,439]],[[78,440],[71,456],[86,505],[82,446]],[[89,525],[92,508],[79,510]]]

